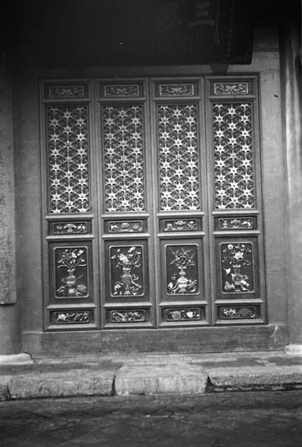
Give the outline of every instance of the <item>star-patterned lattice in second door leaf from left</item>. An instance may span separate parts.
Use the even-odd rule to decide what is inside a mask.
[[[141,105],[103,107],[105,210],[144,211],[144,136]]]

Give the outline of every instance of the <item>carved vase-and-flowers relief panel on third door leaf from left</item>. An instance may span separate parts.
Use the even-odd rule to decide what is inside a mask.
[[[168,245],[166,247],[166,260],[167,294],[198,293],[197,246]]]

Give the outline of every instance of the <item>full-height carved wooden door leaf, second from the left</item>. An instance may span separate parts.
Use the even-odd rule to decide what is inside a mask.
[[[153,203],[146,80],[98,82],[105,328],[152,327]],[[104,263],[102,262],[104,261]]]

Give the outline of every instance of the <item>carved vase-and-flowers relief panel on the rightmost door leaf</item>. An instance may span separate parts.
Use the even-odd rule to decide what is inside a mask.
[[[221,244],[222,291],[252,293],[252,244]]]

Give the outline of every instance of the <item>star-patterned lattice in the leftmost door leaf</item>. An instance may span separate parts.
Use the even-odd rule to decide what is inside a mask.
[[[86,107],[47,109],[51,213],[89,212],[89,147]]]

